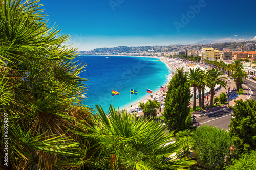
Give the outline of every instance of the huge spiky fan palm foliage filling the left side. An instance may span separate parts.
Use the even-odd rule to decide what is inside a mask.
[[[74,61],[76,49],[65,45],[69,36],[48,27],[37,3],[0,2],[0,112],[9,120],[9,169],[66,167],[81,148],[74,130],[93,124],[91,109],[78,100],[78,92],[85,92],[86,79],[78,77],[85,65]]]

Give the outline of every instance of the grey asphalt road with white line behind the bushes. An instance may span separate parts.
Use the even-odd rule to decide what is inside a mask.
[[[244,81],[244,85],[248,86],[249,81],[245,80]],[[250,89],[252,90],[253,94],[252,94],[252,98],[256,100],[256,83],[250,81]],[[247,91],[245,91],[247,92]],[[225,130],[229,130],[229,123],[231,120],[231,114],[233,113],[233,111],[231,109],[226,109],[214,114],[210,114],[210,115],[205,115],[203,117],[198,117],[196,119],[196,123],[194,123],[195,126],[197,126],[197,124],[199,123],[200,126],[201,125],[211,125],[213,127],[218,127],[221,129],[225,129]]]

